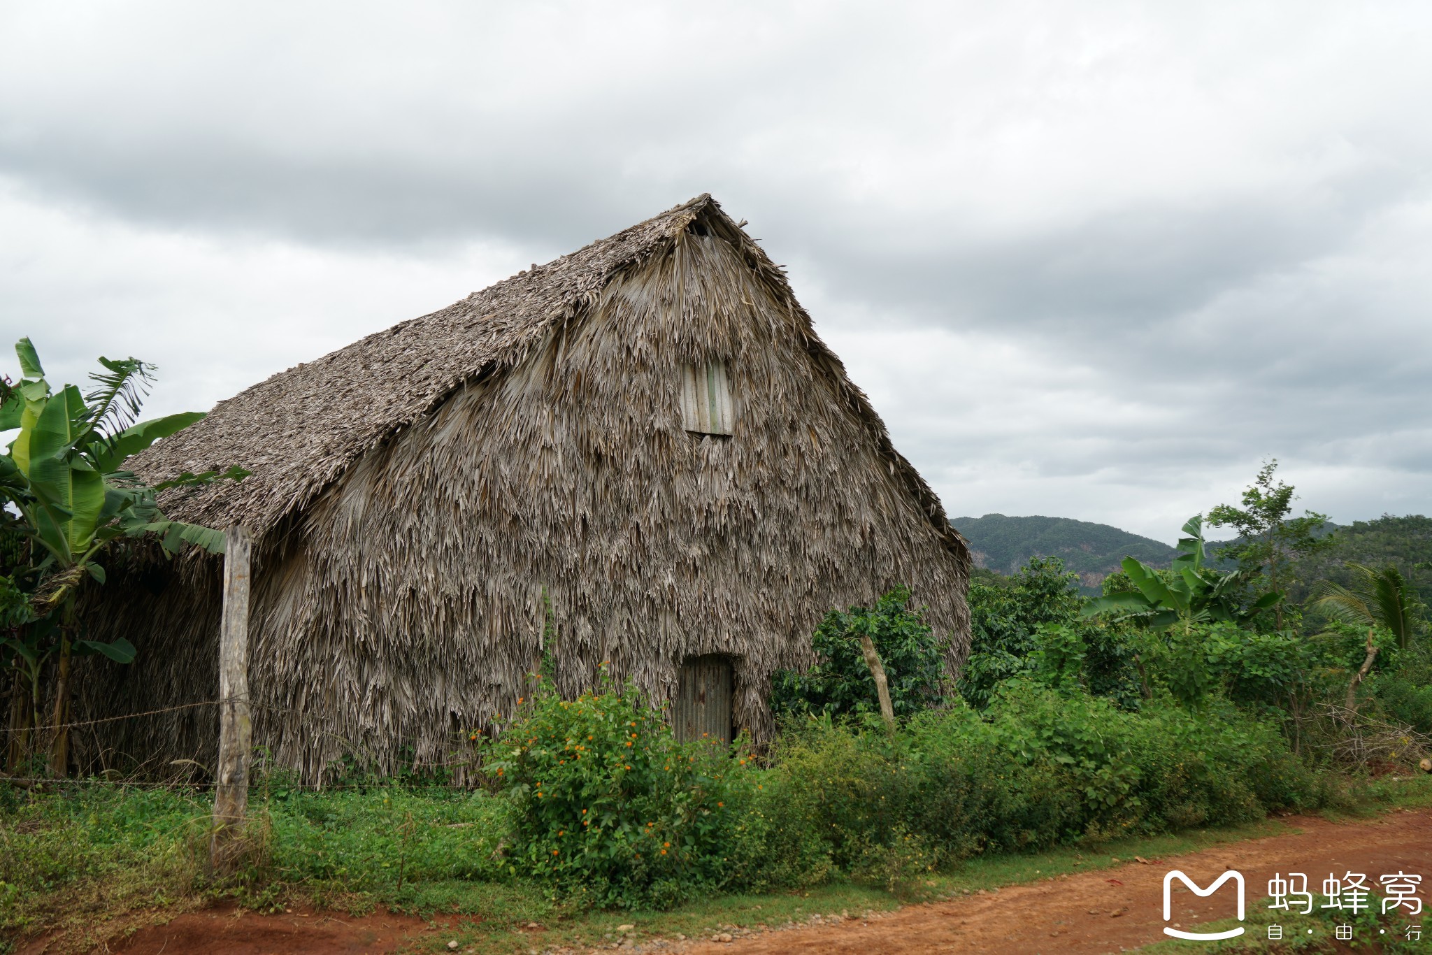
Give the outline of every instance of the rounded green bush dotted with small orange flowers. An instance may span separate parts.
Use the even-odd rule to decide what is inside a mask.
[[[677,743],[630,684],[526,704],[487,765],[508,796],[514,865],[590,903],[670,906],[727,882],[746,759]]]

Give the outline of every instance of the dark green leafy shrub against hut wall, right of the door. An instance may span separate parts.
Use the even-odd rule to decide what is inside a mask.
[[[941,706],[944,646],[909,609],[909,596],[901,587],[874,607],[828,613],[811,640],[816,663],[805,673],[779,670],[770,677],[772,709],[831,716],[878,712],[875,677],[861,651],[862,636],[869,636],[885,667],[896,717]]]

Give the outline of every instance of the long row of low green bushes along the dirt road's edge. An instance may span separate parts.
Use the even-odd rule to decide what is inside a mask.
[[[1203,714],[1158,700],[1131,713],[1018,680],[984,713],[925,713],[894,740],[829,719],[792,726],[762,783],[758,802],[773,828],[805,833],[808,872],[823,856],[855,875],[872,875],[889,853],[938,868],[982,852],[1237,823],[1325,798],[1274,724],[1221,699]]]

